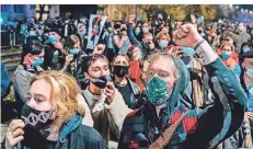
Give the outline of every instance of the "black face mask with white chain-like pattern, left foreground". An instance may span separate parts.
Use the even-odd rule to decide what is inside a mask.
[[[54,121],[53,111],[37,111],[27,104],[24,104],[21,118],[27,127],[33,129],[43,129]]]

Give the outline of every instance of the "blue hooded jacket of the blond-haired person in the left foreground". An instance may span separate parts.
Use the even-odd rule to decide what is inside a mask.
[[[94,128],[81,125],[81,122],[82,116],[76,114],[61,125],[57,141],[49,141],[42,137],[24,138],[16,149],[107,149],[101,135]]]

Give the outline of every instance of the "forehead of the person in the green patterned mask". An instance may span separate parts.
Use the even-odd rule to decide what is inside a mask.
[[[158,59],[151,61],[149,69],[172,72],[173,67],[174,65],[172,65],[171,59],[168,57],[159,57]]]

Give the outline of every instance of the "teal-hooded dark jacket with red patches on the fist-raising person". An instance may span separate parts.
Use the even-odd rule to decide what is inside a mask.
[[[221,59],[217,58],[205,66],[215,95],[214,105],[205,110],[187,110],[181,103],[189,78],[179,58],[175,58],[175,65],[180,79],[166,106],[160,111],[160,117],[150,102],[128,114],[120,131],[118,149],[147,148],[186,111],[187,114],[164,148],[215,148],[241,126],[248,99],[235,76]]]

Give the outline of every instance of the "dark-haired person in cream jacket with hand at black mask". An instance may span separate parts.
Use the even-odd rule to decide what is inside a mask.
[[[94,128],[111,147],[113,146],[111,145],[112,137],[115,137],[115,140],[118,139],[125,115],[130,110],[125,104],[122,94],[115,89],[110,76],[108,60],[104,55],[88,56],[83,60],[82,70],[84,78],[89,80],[82,94],[90,106]]]

